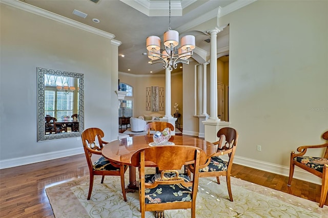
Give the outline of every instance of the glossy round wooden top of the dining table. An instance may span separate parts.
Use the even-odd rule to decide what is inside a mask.
[[[190,136],[171,136],[169,141],[175,145],[196,146],[205,151],[208,156],[217,150],[213,143]],[[115,140],[106,144],[101,150],[101,154],[113,162],[131,165],[131,157],[134,152],[141,148],[150,147],[151,142],[153,142],[152,136],[133,136]]]

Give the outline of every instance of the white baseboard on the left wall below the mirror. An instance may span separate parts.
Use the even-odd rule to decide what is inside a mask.
[[[79,155],[79,154],[84,154],[83,147],[48,152],[45,154],[30,155],[30,156],[19,157],[19,158],[11,158],[6,160],[1,160],[0,169],[22,166],[26,164],[38,163],[43,161],[49,161],[53,159],[64,158],[64,157]]]

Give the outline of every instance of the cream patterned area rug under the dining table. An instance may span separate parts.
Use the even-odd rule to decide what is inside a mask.
[[[138,173],[137,173],[138,175]],[[89,177],[55,185],[46,189],[55,217],[140,217],[138,193],[127,193],[125,202],[119,177],[100,176],[94,181],[91,200],[87,200]],[[229,201],[226,181],[214,177],[200,178],[196,217],[328,217],[328,207],[294,195],[231,178],[234,202]],[[125,178],[128,184],[128,173]],[[190,209],[166,210],[165,216],[191,217]],[[155,217],[146,212],[146,217]]]

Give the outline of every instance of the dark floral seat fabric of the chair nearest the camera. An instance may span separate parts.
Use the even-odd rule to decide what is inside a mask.
[[[172,173],[166,173],[166,177],[175,176]],[[186,181],[190,181],[190,178],[186,175],[179,174]],[[146,183],[154,183],[155,179],[160,178],[160,173],[145,175]],[[146,204],[157,204],[167,202],[180,202],[191,201],[191,187],[185,187],[181,184],[174,185],[158,185],[155,188],[146,188]]]

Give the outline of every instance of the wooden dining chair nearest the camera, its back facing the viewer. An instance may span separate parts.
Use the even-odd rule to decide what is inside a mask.
[[[156,211],[156,217],[164,217],[164,210],[191,209],[196,214],[199,164],[205,163],[206,153],[193,146],[154,146],[137,150],[131,157],[132,166],[139,169],[139,200],[141,217],[146,211]],[[161,173],[147,175],[147,162],[153,162]],[[190,179],[179,173],[186,163],[193,163]]]

